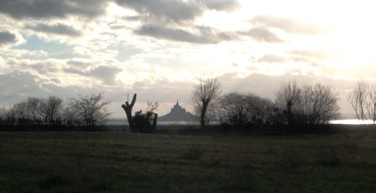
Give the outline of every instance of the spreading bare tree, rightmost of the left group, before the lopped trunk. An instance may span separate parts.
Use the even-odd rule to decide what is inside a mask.
[[[91,130],[94,130],[94,126],[98,123],[103,124],[111,114],[105,107],[111,101],[101,101],[103,93],[91,93],[85,96],[78,95],[78,98],[70,97],[68,99],[70,100],[70,106],[77,110],[82,122],[91,128]]]

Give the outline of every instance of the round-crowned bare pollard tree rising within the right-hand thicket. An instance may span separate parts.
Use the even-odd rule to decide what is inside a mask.
[[[276,92],[277,102],[281,105],[286,105],[287,108],[287,123],[293,124],[293,104],[299,101],[301,88],[298,86],[296,80],[283,82]]]

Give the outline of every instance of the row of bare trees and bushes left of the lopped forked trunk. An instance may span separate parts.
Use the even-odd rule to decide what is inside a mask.
[[[64,131],[95,130],[111,114],[101,101],[103,93],[69,97],[64,102],[57,96],[28,97],[9,109],[0,108],[0,130]]]

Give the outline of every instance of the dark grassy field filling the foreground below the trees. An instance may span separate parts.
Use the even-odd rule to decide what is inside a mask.
[[[0,132],[0,192],[375,192],[373,133]]]

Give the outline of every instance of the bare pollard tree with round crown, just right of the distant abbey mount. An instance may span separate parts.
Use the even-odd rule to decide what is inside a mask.
[[[222,90],[217,78],[200,78],[200,81],[194,84],[191,99],[196,112],[200,113],[201,128],[205,128],[205,113],[210,101],[217,98]]]

